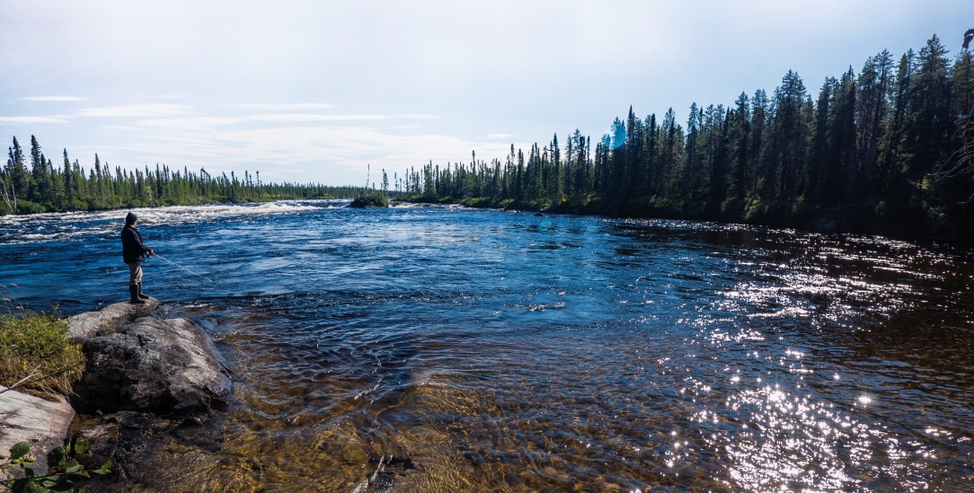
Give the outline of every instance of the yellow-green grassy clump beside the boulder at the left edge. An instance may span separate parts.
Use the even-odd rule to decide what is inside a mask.
[[[71,393],[85,355],[67,339],[67,321],[56,314],[12,307],[0,312],[0,385],[38,396]]]

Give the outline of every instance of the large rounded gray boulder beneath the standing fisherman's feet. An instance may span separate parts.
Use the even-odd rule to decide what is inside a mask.
[[[69,322],[88,359],[74,386],[76,408],[165,413],[224,404],[231,382],[206,332],[186,319],[141,316],[146,308],[118,303],[98,312],[99,322]]]

